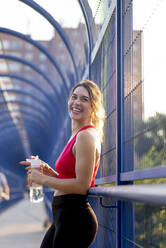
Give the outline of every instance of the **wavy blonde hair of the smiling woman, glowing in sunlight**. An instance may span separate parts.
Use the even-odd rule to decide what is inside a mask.
[[[86,80],[79,82],[78,84],[76,84],[72,88],[70,96],[72,95],[74,90],[80,86],[84,87],[89,93],[89,97],[90,97],[90,101],[91,101],[92,109],[93,109],[92,124],[98,130],[99,135],[100,135],[100,140],[102,141],[103,126],[104,126],[104,120],[105,120],[105,109],[103,106],[103,95],[100,91],[100,88],[98,87],[98,85],[95,82],[86,79]]]

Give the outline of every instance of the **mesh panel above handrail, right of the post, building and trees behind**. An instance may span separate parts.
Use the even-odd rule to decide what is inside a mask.
[[[166,111],[160,100],[165,99],[162,30],[166,4],[144,3],[124,1],[124,171],[166,163]]]

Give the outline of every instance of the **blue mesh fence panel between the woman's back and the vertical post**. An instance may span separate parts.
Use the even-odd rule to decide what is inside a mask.
[[[99,167],[98,178],[116,174],[115,36],[115,14],[113,14],[99,50],[94,57],[91,70],[92,80],[99,83],[101,87],[107,114],[102,145],[102,166]],[[103,199],[102,205],[107,206],[103,207],[100,199],[90,198],[90,201],[99,222],[97,238],[92,247],[116,247],[116,208],[108,207],[115,206],[116,203],[111,199]]]

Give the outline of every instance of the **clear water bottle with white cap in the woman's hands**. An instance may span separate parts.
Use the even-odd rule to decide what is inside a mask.
[[[36,156],[35,159],[26,159],[26,161],[31,163],[32,168],[37,168],[41,165],[40,161],[38,160],[38,156]],[[32,186],[30,187],[29,198],[30,201],[34,203],[43,201],[43,187],[39,184],[32,183]]]

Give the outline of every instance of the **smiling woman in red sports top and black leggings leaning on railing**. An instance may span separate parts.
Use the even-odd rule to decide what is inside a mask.
[[[53,224],[41,248],[87,248],[94,241],[98,227],[87,200],[88,189],[94,186],[99,165],[104,120],[98,86],[90,80],[74,86],[68,100],[68,112],[72,136],[55,163],[59,174],[43,161],[40,171],[28,168],[30,185],[35,182],[55,190]]]

